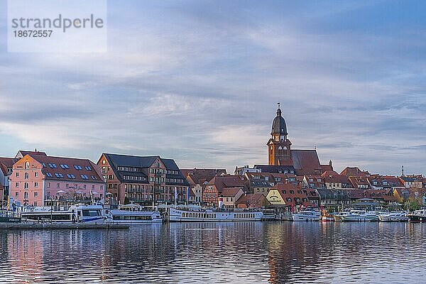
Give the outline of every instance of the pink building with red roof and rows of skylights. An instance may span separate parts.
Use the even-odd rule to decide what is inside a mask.
[[[90,202],[104,198],[101,168],[91,160],[23,152],[13,165],[10,196],[21,205],[49,206]]]

